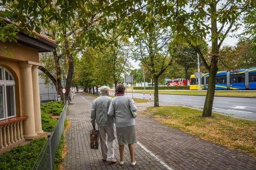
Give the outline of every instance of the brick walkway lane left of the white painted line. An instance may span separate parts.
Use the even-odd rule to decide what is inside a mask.
[[[65,138],[68,147],[68,154],[64,160],[64,169],[72,170],[163,170],[166,169],[155,158],[150,156],[148,152],[143,150],[140,146],[135,144],[135,159],[137,164],[130,165],[130,153],[128,146],[124,149],[124,165],[107,164],[102,159],[101,149],[90,149],[90,133],[92,125],[90,123],[91,106],[83,98],[90,103],[95,99],[78,93],[75,99],[72,100],[74,105],[70,105],[68,119],[70,120],[70,129],[68,129]],[[115,159],[119,160],[118,143],[115,144]]]

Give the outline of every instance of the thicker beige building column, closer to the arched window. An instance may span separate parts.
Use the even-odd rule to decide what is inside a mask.
[[[32,64],[20,63],[22,115],[28,116],[24,121],[24,137],[37,136],[34,118],[34,99],[32,83]]]

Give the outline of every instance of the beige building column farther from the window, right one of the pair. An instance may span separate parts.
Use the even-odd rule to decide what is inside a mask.
[[[35,116],[36,133],[41,134],[41,133],[44,133],[44,131],[42,131],[38,66],[36,65],[32,66],[32,81],[33,81],[34,116]]]

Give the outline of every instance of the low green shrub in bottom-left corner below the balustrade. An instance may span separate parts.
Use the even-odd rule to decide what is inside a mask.
[[[33,169],[34,163],[38,158],[46,138],[38,138],[27,145],[18,146],[0,155],[1,170],[28,170]]]

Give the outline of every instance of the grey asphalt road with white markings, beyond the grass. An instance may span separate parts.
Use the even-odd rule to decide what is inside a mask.
[[[132,96],[132,93],[128,93]],[[134,93],[135,98],[143,98],[143,94]],[[149,99],[149,94],[145,94],[145,99]],[[151,94],[154,100],[154,94]],[[205,96],[190,96],[176,94],[159,94],[159,104],[181,104],[197,108],[204,107]],[[234,98],[234,97],[214,97],[212,111],[230,115],[232,117],[242,117],[256,120],[256,98]]]

